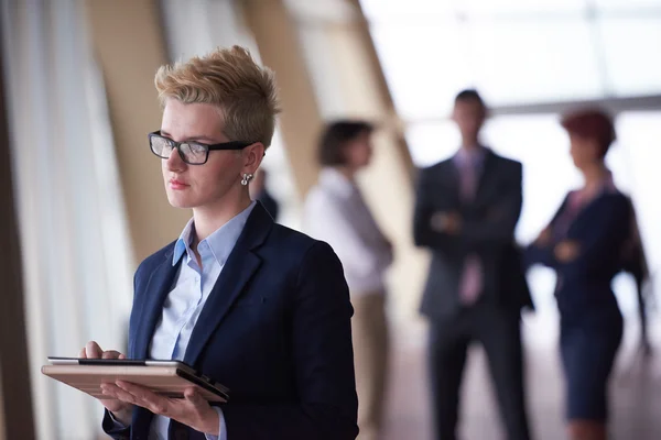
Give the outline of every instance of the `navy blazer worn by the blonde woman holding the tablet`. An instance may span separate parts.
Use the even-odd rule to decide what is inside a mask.
[[[129,358],[144,359],[175,279],[174,243],[136,273]],[[324,242],[273,222],[257,204],[193,330],[184,362],[230,388],[230,440],[349,440],[357,428],[350,318],[339,260]],[[115,439],[148,438],[137,408]],[[171,439],[204,439],[172,421]]]

